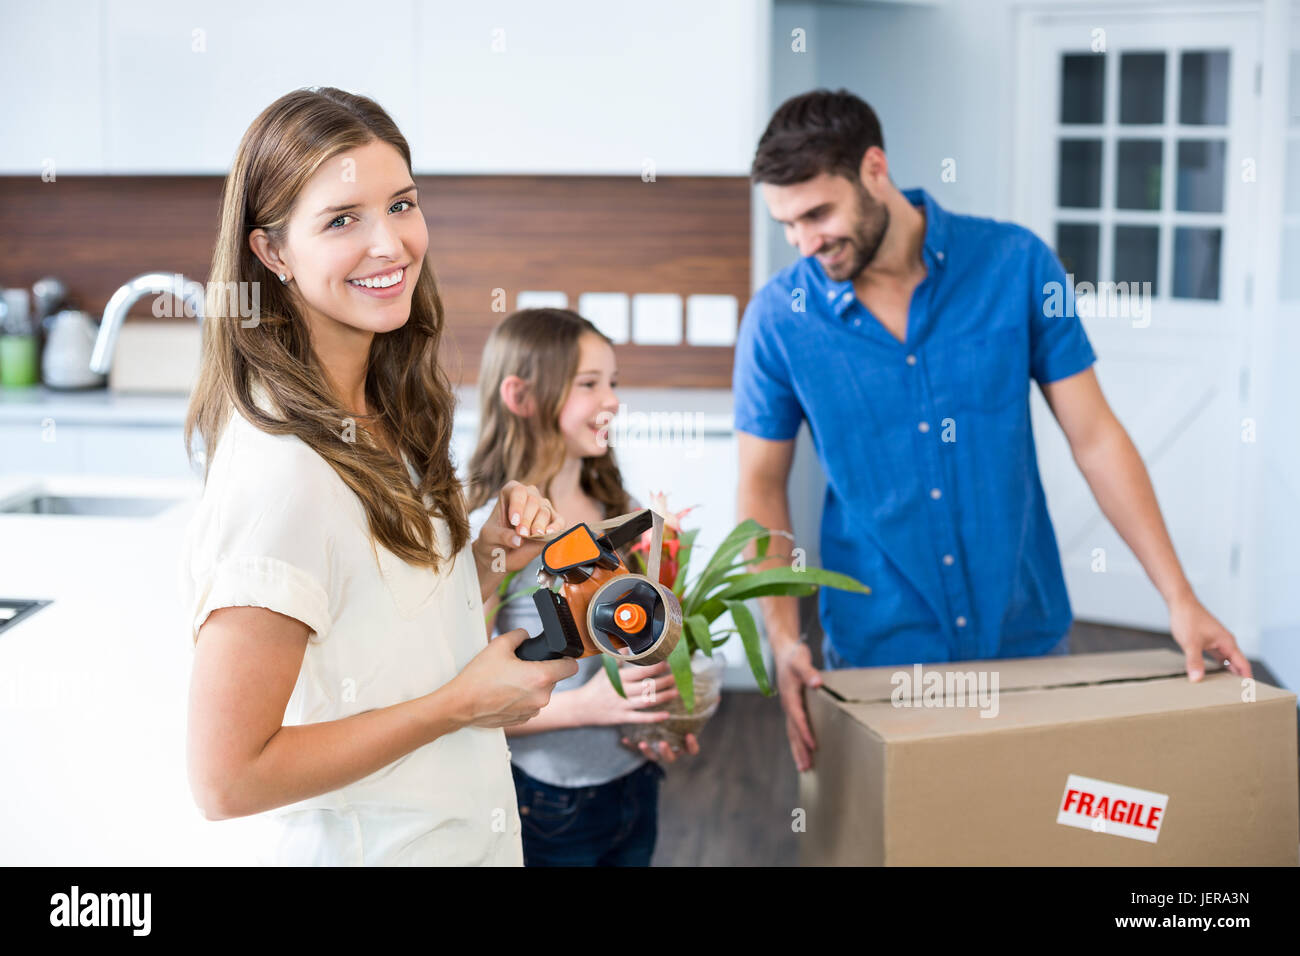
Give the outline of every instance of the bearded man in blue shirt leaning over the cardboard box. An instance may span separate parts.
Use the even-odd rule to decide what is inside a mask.
[[[828,667],[1065,653],[1070,600],[1030,428],[1037,381],[1097,502],[1170,609],[1192,680],[1202,652],[1251,669],[1196,600],[1141,458],[1092,371],[1065,271],[1030,230],[941,209],[889,179],[880,124],[848,91],[783,104],[753,179],[803,256],[760,289],[736,345],[738,511],[789,528],[807,420],[827,476]],[[790,544],[774,542],[777,559]],[[811,766],[820,683],[796,598],[764,598],[790,750]]]

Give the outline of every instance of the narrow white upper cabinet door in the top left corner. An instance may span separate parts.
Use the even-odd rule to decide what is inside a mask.
[[[103,8],[0,0],[0,173],[103,170]]]

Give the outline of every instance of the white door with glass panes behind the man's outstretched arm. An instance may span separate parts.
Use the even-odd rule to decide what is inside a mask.
[[[1101,388],[1147,463],[1192,587],[1228,628],[1240,610],[1243,441],[1253,440],[1258,29],[1244,12],[1026,13],[1019,30],[1018,217],[1080,284]],[[1167,630],[1164,601],[1037,393],[1032,415],[1075,617]]]

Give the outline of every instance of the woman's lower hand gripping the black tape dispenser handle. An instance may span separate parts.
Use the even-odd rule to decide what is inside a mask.
[[[447,682],[460,702],[463,723],[510,727],[530,721],[550,701],[555,684],[577,674],[572,657],[520,661],[515,649],[525,640],[528,631],[521,627],[494,637]]]

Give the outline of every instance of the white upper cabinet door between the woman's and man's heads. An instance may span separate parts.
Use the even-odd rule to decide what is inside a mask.
[[[768,18],[766,0],[421,5],[419,172],[748,174]]]

